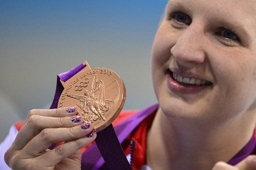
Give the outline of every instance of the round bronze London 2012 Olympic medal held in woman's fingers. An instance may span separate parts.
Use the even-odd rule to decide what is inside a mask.
[[[92,68],[88,63],[82,70],[61,84],[64,87],[58,108],[76,106],[83,120],[93,124],[97,132],[109,126],[120,113],[125,97],[121,78],[107,68]]]

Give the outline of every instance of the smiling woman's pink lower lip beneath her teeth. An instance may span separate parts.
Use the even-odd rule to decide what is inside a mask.
[[[167,74],[167,86],[168,89],[172,92],[184,94],[198,93],[205,90],[206,88],[211,87],[211,85],[188,85],[179,83],[175,81],[169,74]]]

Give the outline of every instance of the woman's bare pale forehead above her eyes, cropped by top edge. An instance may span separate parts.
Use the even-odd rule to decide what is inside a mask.
[[[175,7],[207,20],[233,21],[247,32],[256,33],[256,0],[169,0],[166,10]]]

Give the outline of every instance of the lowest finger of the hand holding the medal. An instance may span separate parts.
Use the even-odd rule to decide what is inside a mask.
[[[73,153],[77,152],[79,149],[90,144],[92,141],[95,140],[95,138],[96,133],[90,138],[83,137],[75,141],[65,143],[37,157],[36,160],[44,164],[46,167],[54,166],[64,158],[69,157]]]

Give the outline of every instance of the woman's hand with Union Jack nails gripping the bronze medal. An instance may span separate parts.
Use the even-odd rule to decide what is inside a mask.
[[[14,170],[80,170],[80,149],[95,140],[96,131],[76,113],[74,107],[31,110],[5,163]],[[48,150],[58,142],[65,143]]]

